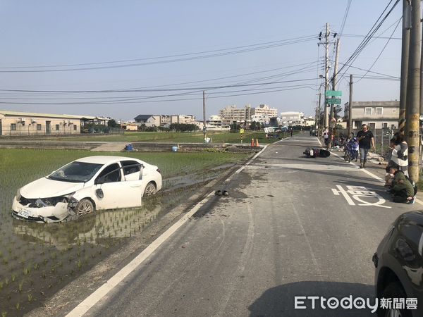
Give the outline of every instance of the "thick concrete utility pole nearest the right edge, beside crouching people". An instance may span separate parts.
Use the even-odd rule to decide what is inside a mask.
[[[412,29],[408,61],[407,99],[405,110],[405,137],[408,143],[408,173],[419,180],[419,116],[420,116],[420,62],[422,37],[420,31],[420,0],[412,0]]]

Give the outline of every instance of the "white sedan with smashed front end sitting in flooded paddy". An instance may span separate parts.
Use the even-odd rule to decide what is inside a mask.
[[[141,206],[141,197],[160,189],[157,166],[124,156],[90,156],[18,189],[12,216],[59,222],[101,209]]]

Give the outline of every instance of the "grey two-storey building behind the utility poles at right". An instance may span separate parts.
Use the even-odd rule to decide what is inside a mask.
[[[345,104],[345,118],[348,120],[349,103]],[[360,129],[362,124],[369,130],[398,128],[400,101],[353,101],[353,129]]]

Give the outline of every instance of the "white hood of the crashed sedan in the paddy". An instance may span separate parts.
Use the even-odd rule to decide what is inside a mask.
[[[83,182],[60,182],[59,180],[39,178],[39,180],[22,187],[20,194],[30,199],[49,198],[71,194],[82,187],[84,187]]]

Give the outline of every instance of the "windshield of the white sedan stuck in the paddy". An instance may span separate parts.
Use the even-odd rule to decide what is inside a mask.
[[[87,182],[102,168],[103,164],[72,162],[49,175],[50,180],[62,182]]]

